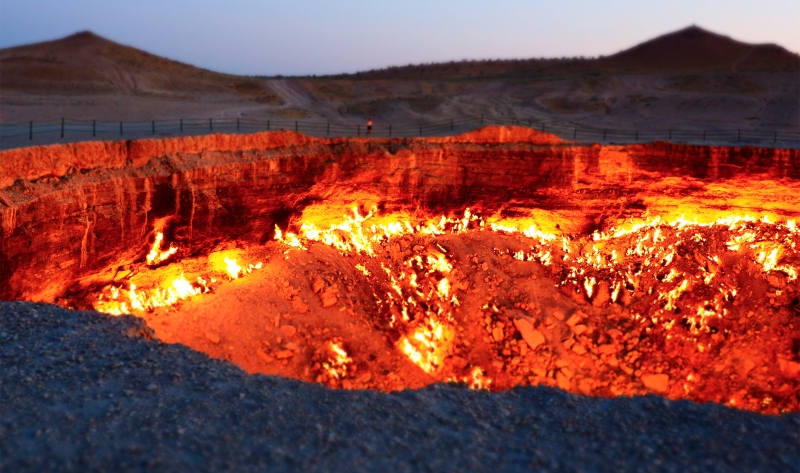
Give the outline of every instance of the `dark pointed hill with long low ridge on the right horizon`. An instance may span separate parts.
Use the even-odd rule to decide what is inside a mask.
[[[600,58],[459,61],[389,67],[336,77],[383,80],[531,79],[575,74],[800,71],[800,55],[748,44],[697,26]]]

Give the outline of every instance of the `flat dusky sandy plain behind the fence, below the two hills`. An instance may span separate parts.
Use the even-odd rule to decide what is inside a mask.
[[[226,94],[33,95],[4,91],[5,123],[53,120],[273,118],[419,123],[480,114],[609,129],[800,128],[792,73],[629,75],[453,85],[402,81],[265,80],[281,105]]]

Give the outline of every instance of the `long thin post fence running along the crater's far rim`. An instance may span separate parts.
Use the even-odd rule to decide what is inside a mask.
[[[690,144],[733,144],[800,148],[797,130],[709,129],[709,130],[620,130],[574,125],[565,122],[498,116],[467,116],[420,123],[376,123],[371,137],[447,136],[486,125],[516,125],[552,133],[581,143],[646,143],[657,140]],[[0,123],[0,149],[91,140],[124,140],[211,133],[253,133],[293,130],[319,137],[367,136],[363,122],[312,120],[205,118],[151,121],[100,121],[60,119],[22,123]]]

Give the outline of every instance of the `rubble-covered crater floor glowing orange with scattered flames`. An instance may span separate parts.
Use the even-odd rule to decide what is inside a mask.
[[[469,209],[315,217],[330,214],[207,257],[180,258],[157,228],[139,266],[66,304],[332,387],[544,384],[800,410],[794,221],[656,217],[575,235]]]

